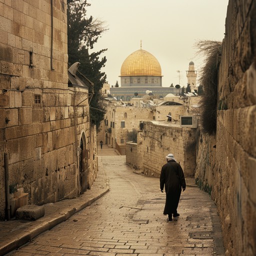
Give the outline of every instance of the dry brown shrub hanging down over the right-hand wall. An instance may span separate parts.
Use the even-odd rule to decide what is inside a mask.
[[[218,67],[222,51],[222,42],[200,40],[195,44],[197,55],[205,57],[204,66],[200,70],[198,81],[203,87],[203,95],[199,102],[201,109],[201,128],[203,133],[216,133],[217,122],[217,88]]]

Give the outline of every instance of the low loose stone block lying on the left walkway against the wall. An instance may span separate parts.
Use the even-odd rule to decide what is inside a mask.
[[[43,205],[25,205],[16,210],[17,219],[36,220],[44,216]]]

